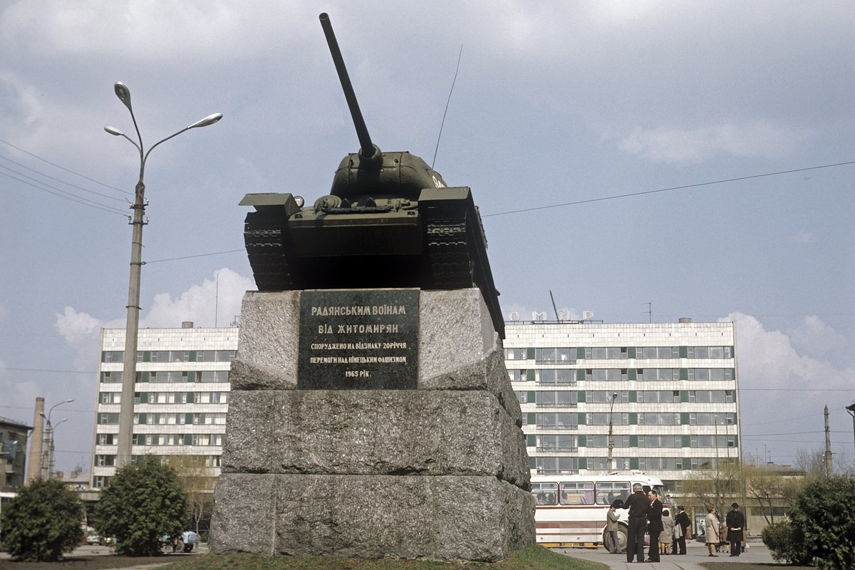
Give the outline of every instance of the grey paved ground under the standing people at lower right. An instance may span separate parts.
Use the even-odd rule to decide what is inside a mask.
[[[706,570],[700,566],[701,562],[740,562],[756,564],[764,562],[773,562],[772,556],[769,554],[769,549],[763,543],[749,543],[748,549],[740,556],[731,557],[726,553],[719,553],[718,558],[711,558],[708,555],[706,545],[693,542],[688,544],[686,555],[668,555],[660,556],[662,561],[652,562],[645,566],[639,566],[638,563],[627,563],[627,555],[625,554],[610,554],[604,549],[557,549],[556,552],[589,560],[601,562],[608,565],[612,570],[637,570],[638,568],[651,568],[652,570]]]

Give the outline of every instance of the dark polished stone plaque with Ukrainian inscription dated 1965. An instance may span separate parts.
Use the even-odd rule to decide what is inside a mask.
[[[299,390],[416,390],[419,291],[300,294]]]

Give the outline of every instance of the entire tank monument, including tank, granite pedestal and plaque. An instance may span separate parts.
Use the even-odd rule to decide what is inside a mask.
[[[522,415],[481,218],[382,152],[321,14],[360,143],[329,195],[248,194],[215,553],[498,561],[534,544]]]

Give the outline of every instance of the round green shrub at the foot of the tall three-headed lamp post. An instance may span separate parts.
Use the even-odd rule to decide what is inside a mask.
[[[180,535],[185,519],[186,494],[178,476],[145,457],[108,479],[95,507],[94,526],[102,537],[115,537],[119,554],[151,556],[160,554],[163,536]]]

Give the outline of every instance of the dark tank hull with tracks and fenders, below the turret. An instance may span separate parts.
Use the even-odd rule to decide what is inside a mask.
[[[249,194],[245,244],[259,291],[481,289],[504,338],[481,217],[467,187],[371,208],[301,209],[290,194]],[[387,211],[378,211],[388,209]],[[332,210],[335,210],[334,212]]]

